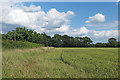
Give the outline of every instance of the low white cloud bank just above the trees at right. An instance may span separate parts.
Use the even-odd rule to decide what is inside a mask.
[[[71,36],[88,36],[94,42],[107,42],[107,40],[111,37],[118,38],[118,30],[103,30],[103,31],[95,31],[88,30],[86,27],[81,27],[79,29],[73,29],[68,33]]]

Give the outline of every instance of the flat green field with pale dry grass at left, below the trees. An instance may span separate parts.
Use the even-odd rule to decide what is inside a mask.
[[[2,52],[3,78],[117,78],[118,48],[34,48]]]

